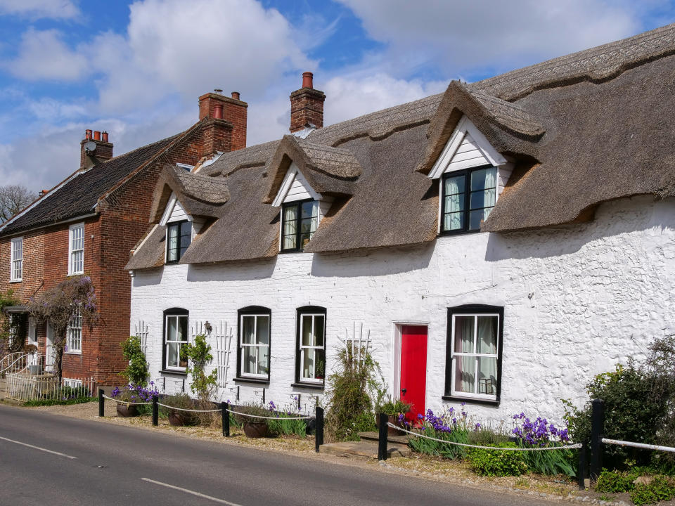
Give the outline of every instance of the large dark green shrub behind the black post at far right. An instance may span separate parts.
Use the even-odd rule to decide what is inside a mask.
[[[586,385],[589,398],[605,401],[604,436],[609,439],[655,443],[660,421],[666,419],[669,401],[653,394],[653,372],[636,368],[633,361],[626,367],[617,365],[614,372],[603,372]],[[574,441],[589,441],[591,437],[591,402],[577,409],[566,401],[565,418],[570,424]],[[634,448],[606,446],[605,463],[624,467],[627,458],[648,462],[650,453]]]

